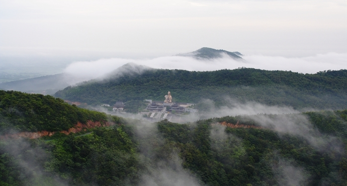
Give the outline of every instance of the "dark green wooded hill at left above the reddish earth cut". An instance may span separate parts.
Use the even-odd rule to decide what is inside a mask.
[[[107,118],[104,113],[77,108],[52,96],[0,90],[0,134],[12,129],[63,131],[88,120],[105,121]]]

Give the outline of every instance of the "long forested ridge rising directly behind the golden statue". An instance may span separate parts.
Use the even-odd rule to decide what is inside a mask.
[[[226,98],[294,108],[347,108],[347,70],[302,74],[253,68],[217,71],[147,70],[124,74],[108,81],[90,81],[66,87],[55,97],[88,104],[129,100],[164,100],[198,103],[211,99],[217,105]]]

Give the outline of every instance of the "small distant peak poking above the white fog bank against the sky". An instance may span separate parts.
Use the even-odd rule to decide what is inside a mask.
[[[214,59],[214,58],[223,57],[223,54],[234,59],[242,59],[242,57],[240,57],[242,55],[240,52],[229,52],[226,50],[217,50],[217,49],[207,48],[207,47],[200,48],[199,50],[196,50],[194,52],[178,54],[178,55],[191,56],[198,59]]]

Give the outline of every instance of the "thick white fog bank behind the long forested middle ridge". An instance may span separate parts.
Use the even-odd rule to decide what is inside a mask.
[[[122,59],[110,58],[96,61],[77,61],[68,65],[64,72],[74,74],[84,80],[101,77],[132,62],[152,68],[184,69],[190,71],[211,71],[219,69],[235,69],[238,67],[264,70],[291,70],[299,73],[316,73],[323,70],[345,69],[347,53],[317,54],[309,57],[286,58],[281,56],[243,55],[243,60],[230,57],[217,59],[196,59],[185,56],[166,56],[154,59]]]

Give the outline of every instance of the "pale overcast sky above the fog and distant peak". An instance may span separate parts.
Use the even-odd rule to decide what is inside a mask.
[[[346,43],[345,0],[0,0],[0,60],[17,68],[49,63],[63,71],[75,61],[202,47],[307,58],[344,55]]]

